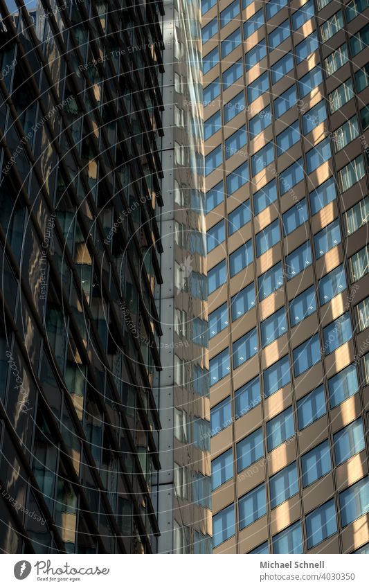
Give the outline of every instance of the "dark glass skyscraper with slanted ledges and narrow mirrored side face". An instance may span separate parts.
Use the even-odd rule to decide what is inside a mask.
[[[185,50],[177,21],[165,30],[183,76],[175,91],[191,93],[181,141],[173,100],[163,105],[170,82],[174,96],[163,2],[0,6],[6,553],[209,549],[200,9],[191,6]]]

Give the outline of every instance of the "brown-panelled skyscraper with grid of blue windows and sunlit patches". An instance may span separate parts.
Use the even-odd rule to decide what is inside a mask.
[[[368,553],[368,1],[202,14],[214,552]]]

